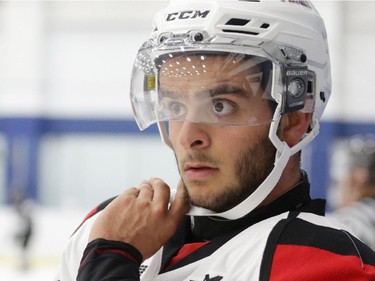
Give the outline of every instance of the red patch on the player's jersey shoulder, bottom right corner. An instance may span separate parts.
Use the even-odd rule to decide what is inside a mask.
[[[309,246],[278,245],[270,281],[374,281],[375,267],[357,256],[340,255]]]

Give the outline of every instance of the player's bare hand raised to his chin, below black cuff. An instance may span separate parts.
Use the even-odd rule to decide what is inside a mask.
[[[154,255],[176,232],[190,204],[182,182],[169,206],[170,189],[153,178],[113,200],[95,221],[89,242],[104,238],[137,248],[143,259]]]

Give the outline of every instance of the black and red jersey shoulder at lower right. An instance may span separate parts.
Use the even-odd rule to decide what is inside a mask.
[[[375,280],[375,253],[349,232],[300,218],[271,233],[263,272],[269,279]]]

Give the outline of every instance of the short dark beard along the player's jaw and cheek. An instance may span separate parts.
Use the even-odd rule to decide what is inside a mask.
[[[251,147],[244,149],[236,162],[237,182],[227,186],[220,194],[212,195],[210,200],[191,200],[195,206],[203,207],[217,213],[225,212],[235,207],[249,197],[271,173],[274,167],[276,148],[268,136],[259,139]],[[204,155],[194,157],[199,160],[209,160]]]

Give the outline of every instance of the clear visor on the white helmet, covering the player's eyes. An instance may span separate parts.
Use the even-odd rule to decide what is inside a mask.
[[[154,56],[154,57],[153,57]],[[255,126],[270,123],[274,64],[222,51],[146,49],[133,69],[131,101],[140,129],[164,121]]]

